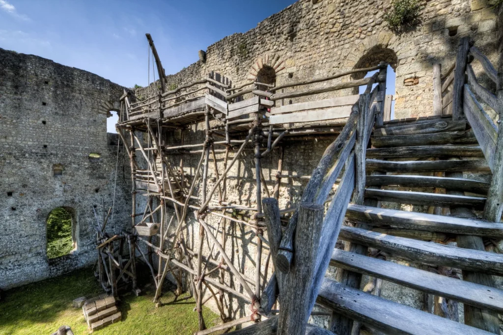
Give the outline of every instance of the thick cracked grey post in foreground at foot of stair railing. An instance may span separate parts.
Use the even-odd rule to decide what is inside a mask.
[[[311,314],[310,288],[323,222],[323,205],[301,203],[295,232],[295,252],[292,270],[281,291],[278,334],[302,335]]]

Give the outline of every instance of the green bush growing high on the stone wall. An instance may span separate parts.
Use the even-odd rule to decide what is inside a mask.
[[[418,0],[391,0],[391,8],[384,10],[383,19],[392,30],[411,26],[419,16],[421,6]]]

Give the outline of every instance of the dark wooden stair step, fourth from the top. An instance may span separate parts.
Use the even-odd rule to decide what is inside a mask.
[[[490,172],[485,159],[477,160],[405,160],[367,159],[367,171],[383,172]]]

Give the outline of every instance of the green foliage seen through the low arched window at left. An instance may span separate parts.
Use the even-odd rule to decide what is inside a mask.
[[[68,255],[72,249],[71,214],[63,207],[54,208],[47,217],[47,257]]]

